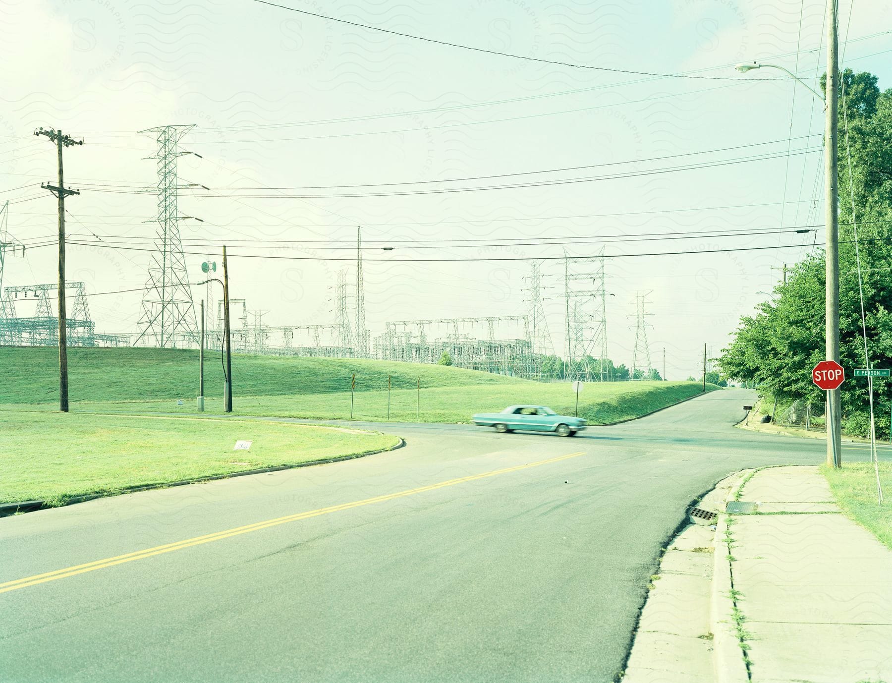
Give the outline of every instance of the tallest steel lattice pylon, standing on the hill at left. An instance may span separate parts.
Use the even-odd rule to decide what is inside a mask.
[[[177,207],[177,159],[179,139],[194,124],[184,126],[160,126],[140,131],[153,133],[158,141],[158,151],[149,159],[158,161],[158,212],[154,222],[158,224],[157,241],[149,265],[146,292],[143,296],[143,314],[139,319],[139,336],[135,344],[149,340],[155,345],[175,347],[191,345],[198,341],[195,307],[189,287],[186,257],[179,236],[180,217]]]

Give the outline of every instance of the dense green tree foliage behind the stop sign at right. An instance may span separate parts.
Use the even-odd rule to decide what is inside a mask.
[[[880,92],[877,78],[866,72],[846,70],[841,81],[839,332],[847,370],[842,401],[849,431],[863,433],[867,383],[852,377],[854,368],[866,367],[858,257],[868,354],[873,366],[892,366],[892,89]],[[740,320],[719,359],[724,375],[755,381],[782,399],[824,399],[810,372],[825,357],[824,267],[823,251],[816,251],[788,272],[787,284],[775,287],[773,299],[761,303],[755,316]],[[888,410],[890,383],[876,382],[874,391]]]

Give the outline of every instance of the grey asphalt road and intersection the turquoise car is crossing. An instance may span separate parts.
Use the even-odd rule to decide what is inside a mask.
[[[0,519],[0,679],[613,680],[690,500],[822,461],[732,428],[754,399],[568,439],[369,424],[407,447]]]

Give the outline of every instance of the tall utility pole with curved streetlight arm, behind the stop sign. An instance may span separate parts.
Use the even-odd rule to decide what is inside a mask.
[[[816,97],[824,102],[824,188],[825,197],[825,269],[826,291],[824,294],[826,359],[839,362],[839,225],[838,225],[838,0],[827,3],[827,86],[825,95],[817,92],[805,81],[797,78],[777,64],[760,64],[758,62],[738,64],[735,69],[746,73],[749,70],[770,67],[780,69],[807,87]],[[842,465],[842,439],[839,417],[842,414],[839,390],[827,391],[827,464],[839,467]]]

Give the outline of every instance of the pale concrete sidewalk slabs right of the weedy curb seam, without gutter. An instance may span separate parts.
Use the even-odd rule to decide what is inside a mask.
[[[772,467],[731,515],[752,680],[892,680],[892,551],[839,513],[817,467]],[[764,514],[772,513],[772,514]]]

